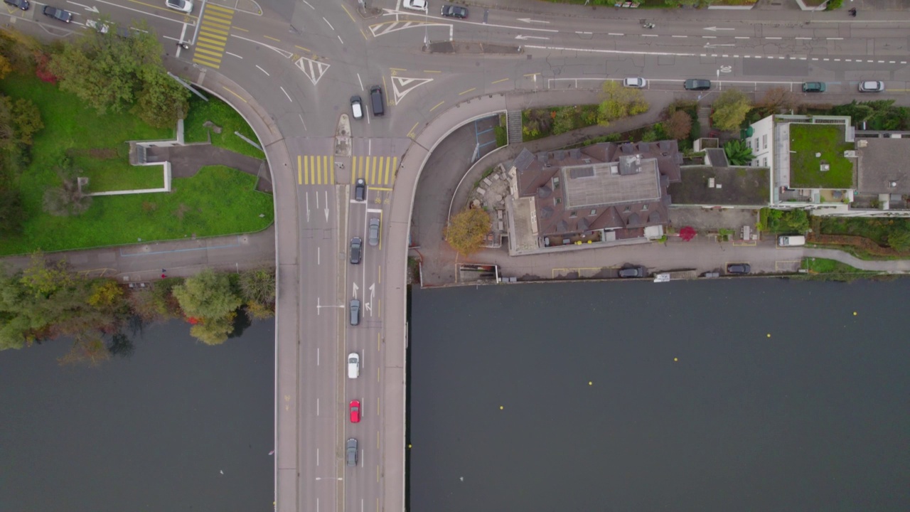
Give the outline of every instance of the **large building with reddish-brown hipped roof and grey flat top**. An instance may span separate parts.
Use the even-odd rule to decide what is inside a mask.
[[[681,163],[675,140],[522,150],[508,175],[510,252],[661,238]]]

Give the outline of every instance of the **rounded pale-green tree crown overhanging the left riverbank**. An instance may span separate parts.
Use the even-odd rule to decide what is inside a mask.
[[[183,284],[174,287],[173,293],[185,315],[202,318],[206,322],[226,317],[243,303],[234,292],[227,274],[215,273],[211,269],[187,278]]]

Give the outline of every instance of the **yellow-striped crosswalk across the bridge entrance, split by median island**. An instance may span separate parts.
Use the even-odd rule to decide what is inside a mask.
[[[395,182],[398,157],[351,157],[350,167],[351,183],[363,179],[371,187],[391,187]],[[345,169],[344,163],[330,155],[298,155],[297,183],[334,185],[335,173],[341,169]]]

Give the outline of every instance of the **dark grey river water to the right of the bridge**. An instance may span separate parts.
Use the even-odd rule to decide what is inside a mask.
[[[908,285],[416,290],[410,510],[906,512]]]

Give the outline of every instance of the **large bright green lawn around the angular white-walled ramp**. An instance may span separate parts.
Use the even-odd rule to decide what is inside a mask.
[[[123,184],[145,188],[154,180],[159,187],[161,168],[129,166],[126,141],[171,139],[174,130],[150,128],[129,113],[98,116],[82,108],[74,95],[35,77],[10,75],[0,81],[0,90],[35,102],[45,124],[35,134],[32,162],[18,183],[27,212],[24,232],[0,241],[0,254],[248,232],[262,230],[273,220],[272,198],[254,190],[256,178],[221,167],[175,179],[169,194],[96,197],[79,217],[53,217],[42,209],[42,199],[45,189],[60,183],[55,167],[64,155],[100,181],[93,181],[96,189]],[[260,219],[260,213],[265,217]]]

